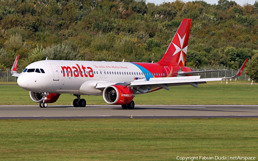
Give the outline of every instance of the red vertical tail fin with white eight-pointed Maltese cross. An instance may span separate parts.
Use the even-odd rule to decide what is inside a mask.
[[[175,36],[163,58],[157,62],[160,65],[180,65],[185,66],[185,57],[187,52],[189,33],[191,28],[191,19],[183,19]]]

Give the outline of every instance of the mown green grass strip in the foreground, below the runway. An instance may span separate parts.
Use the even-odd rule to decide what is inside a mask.
[[[258,119],[0,120],[0,160],[255,156]]]

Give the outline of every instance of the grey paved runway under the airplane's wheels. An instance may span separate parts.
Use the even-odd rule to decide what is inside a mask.
[[[258,105],[116,105],[0,106],[0,119],[87,119],[87,118],[258,118]]]

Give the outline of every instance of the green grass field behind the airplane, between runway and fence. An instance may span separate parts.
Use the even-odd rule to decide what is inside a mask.
[[[1,83],[0,83],[1,84]],[[248,81],[225,81],[200,84],[198,88],[188,86],[170,87],[148,94],[136,95],[135,104],[257,104],[258,86]],[[62,94],[52,105],[71,105],[75,96]],[[102,96],[81,96],[88,105],[106,104]],[[30,99],[29,92],[19,86],[0,86],[0,105],[37,105]]]

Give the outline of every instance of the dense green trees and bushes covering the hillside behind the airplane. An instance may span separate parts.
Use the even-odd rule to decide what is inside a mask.
[[[46,59],[157,62],[191,18],[186,65],[238,69],[258,49],[258,2],[0,1],[0,65]]]

